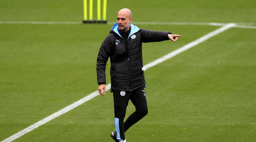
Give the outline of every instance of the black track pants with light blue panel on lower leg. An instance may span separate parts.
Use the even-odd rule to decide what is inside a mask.
[[[145,91],[143,87],[134,91],[113,90],[113,98],[115,111],[114,124],[117,132],[117,139],[125,140],[125,131],[148,114]],[[136,110],[124,122],[129,99]]]

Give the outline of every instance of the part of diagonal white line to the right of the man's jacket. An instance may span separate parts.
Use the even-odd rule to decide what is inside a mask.
[[[148,63],[147,65],[145,65],[143,67],[148,69],[148,68],[150,68],[152,66],[155,66],[155,65],[157,65],[159,63],[162,63],[163,61],[168,60],[168,59],[176,56],[177,54],[180,54],[181,52],[184,52],[187,49],[192,48],[192,47],[198,45],[199,43],[202,43],[202,42],[206,41],[207,39],[209,39],[209,38],[211,38],[213,36],[216,36],[217,34],[223,32],[223,31],[226,31],[229,28],[234,27],[234,26],[235,26],[234,23],[226,24],[225,26],[222,26],[222,27],[218,28],[217,30],[212,31],[212,32],[204,35],[203,37],[200,37],[197,40],[195,40],[195,41],[193,41],[191,43],[188,43],[188,44],[182,46],[181,48],[178,48],[178,49],[174,50],[173,52],[171,52],[171,53],[169,53],[169,54],[167,54],[167,55],[165,55],[165,56],[163,56],[163,57],[161,57],[161,58],[159,58],[159,59],[157,59],[157,60],[155,60],[153,62]]]

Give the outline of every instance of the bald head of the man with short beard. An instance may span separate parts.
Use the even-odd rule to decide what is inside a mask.
[[[121,31],[127,32],[130,29],[132,13],[130,9],[121,9],[117,13],[117,23]]]

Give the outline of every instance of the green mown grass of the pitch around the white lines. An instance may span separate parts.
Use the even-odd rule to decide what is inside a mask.
[[[96,19],[96,1],[94,2]],[[256,26],[255,0],[108,1],[107,20],[129,8],[136,22],[219,22]],[[82,24],[82,0],[0,0],[0,141],[98,88],[96,58],[110,24]],[[147,25],[182,35],[143,43],[144,65],[220,26]],[[256,141],[256,29],[232,27],[146,70],[149,113],[128,142]],[[109,63],[107,83],[110,83]],[[14,141],[113,141],[113,94],[101,95]],[[126,117],[135,110],[130,102]]]

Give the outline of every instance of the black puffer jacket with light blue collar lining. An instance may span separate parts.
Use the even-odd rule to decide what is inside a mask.
[[[106,65],[110,57],[111,88],[123,91],[132,91],[145,85],[144,72],[142,71],[142,43],[160,42],[169,40],[167,31],[149,31],[139,29],[130,24],[131,32],[127,45],[118,32],[115,23],[109,35],[101,44],[97,58],[98,84],[106,84]],[[126,51],[127,48],[127,51]]]

